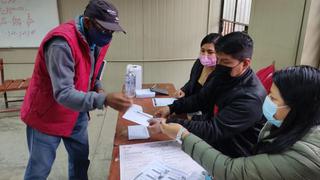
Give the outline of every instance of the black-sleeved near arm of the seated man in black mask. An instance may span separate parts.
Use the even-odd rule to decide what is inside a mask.
[[[168,122],[179,123],[191,133],[212,143],[238,134],[261,120],[261,105],[259,99],[243,96],[224,107],[211,119],[203,121],[168,119]]]

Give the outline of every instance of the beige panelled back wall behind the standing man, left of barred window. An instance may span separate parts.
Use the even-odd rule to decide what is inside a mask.
[[[112,0],[127,34],[116,33],[106,56],[104,85],[119,91],[128,63],[143,66],[144,82],[181,87],[198,56],[201,39],[217,32],[220,0]],[[60,22],[83,12],[88,0],[58,0]],[[6,77],[32,74],[37,49],[0,49]]]

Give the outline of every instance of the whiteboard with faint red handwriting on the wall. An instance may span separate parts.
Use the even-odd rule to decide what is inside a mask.
[[[58,24],[57,0],[0,0],[0,48],[39,47]]]

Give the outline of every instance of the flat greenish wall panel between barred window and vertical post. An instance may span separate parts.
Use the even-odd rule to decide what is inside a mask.
[[[249,34],[255,42],[253,67],[276,61],[282,68],[296,64],[305,0],[253,0]]]

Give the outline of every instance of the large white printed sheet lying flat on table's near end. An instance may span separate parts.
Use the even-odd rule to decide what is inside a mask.
[[[159,141],[142,144],[120,145],[120,179],[132,180],[147,165],[159,161],[166,166],[186,173],[187,176],[201,176],[205,170],[181,150],[176,141]],[[183,162],[183,163],[181,163]],[[201,177],[199,178],[201,179]]]

